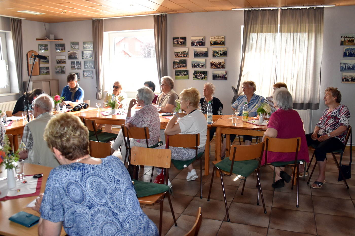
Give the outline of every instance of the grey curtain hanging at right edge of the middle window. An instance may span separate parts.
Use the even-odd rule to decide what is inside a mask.
[[[168,75],[168,24],[167,14],[154,15],[155,57],[157,60],[159,88],[160,78]],[[160,91],[161,92],[161,91]]]

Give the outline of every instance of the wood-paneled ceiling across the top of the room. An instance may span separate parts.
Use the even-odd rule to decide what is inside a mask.
[[[0,0],[0,15],[45,23],[83,21],[93,18],[208,11],[245,7],[355,5],[355,0]],[[34,11],[30,15],[18,11]]]

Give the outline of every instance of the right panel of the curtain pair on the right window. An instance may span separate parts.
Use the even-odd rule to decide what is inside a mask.
[[[324,7],[280,12],[277,82],[284,82],[294,109],[317,110],[323,52]]]

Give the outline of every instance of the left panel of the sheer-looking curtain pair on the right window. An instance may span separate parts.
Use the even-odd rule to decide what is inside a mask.
[[[242,83],[251,80],[255,93],[269,94],[275,80],[277,57],[278,9],[245,10],[242,61],[237,94],[242,94]]]

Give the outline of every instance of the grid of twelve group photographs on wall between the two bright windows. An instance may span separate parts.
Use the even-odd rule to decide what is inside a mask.
[[[227,80],[227,71],[222,70],[226,68],[227,57],[225,36],[173,37],[172,46],[176,58],[173,60],[175,79],[207,80],[207,71],[204,69],[211,68],[215,69],[212,71],[212,80]],[[189,57],[191,63],[187,60]]]

